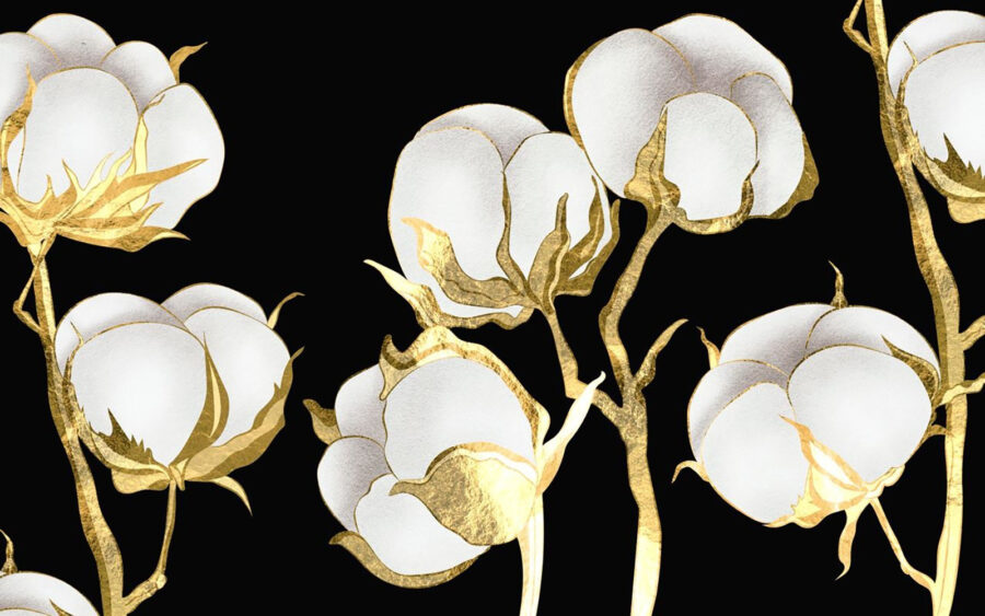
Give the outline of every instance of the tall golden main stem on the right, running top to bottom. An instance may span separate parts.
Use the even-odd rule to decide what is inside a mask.
[[[960,326],[958,286],[934,234],[927,201],[914,170],[912,152],[897,126],[899,109],[887,68],[889,39],[882,0],[865,0],[869,47],[879,86],[879,111],[887,150],[906,197],[913,246],[920,274],[930,291],[942,386],[950,388],[964,381],[964,336]],[[951,613],[961,550],[961,524],[964,503],[962,466],[967,429],[967,399],[958,396],[947,405],[945,456],[948,473],[943,528],[937,549],[937,574],[931,590],[935,616]]]

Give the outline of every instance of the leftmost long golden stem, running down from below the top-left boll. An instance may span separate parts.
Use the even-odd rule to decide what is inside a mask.
[[[51,298],[48,267],[43,255],[32,260],[36,268],[33,276],[34,301],[37,311],[38,337],[45,352],[48,405],[51,409],[51,418],[72,468],[82,532],[85,534],[85,541],[96,561],[100,577],[103,614],[106,616],[124,615],[126,611],[123,603],[123,556],[100,508],[95,481],[89,463],[85,461],[76,427],[67,407],[61,403],[61,372],[58,370],[58,362],[55,358],[55,302]]]

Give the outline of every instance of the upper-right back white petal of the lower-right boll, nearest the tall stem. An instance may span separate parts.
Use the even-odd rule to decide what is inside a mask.
[[[807,353],[835,345],[858,345],[890,353],[883,338],[938,368],[934,348],[912,325],[894,314],[866,306],[850,306],[821,317],[808,340]]]

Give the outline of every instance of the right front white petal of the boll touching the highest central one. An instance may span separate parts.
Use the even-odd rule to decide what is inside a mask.
[[[557,204],[568,195],[566,213],[571,245],[589,232],[589,208],[596,184],[584,152],[570,136],[547,132],[520,146],[506,168],[510,191],[510,254],[530,272],[541,244],[554,230]],[[602,207],[609,208],[605,189],[598,186]]]

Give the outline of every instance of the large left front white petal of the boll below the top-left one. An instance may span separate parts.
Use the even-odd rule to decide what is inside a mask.
[[[120,325],[76,352],[72,384],[92,427],[120,428],[170,464],[201,416],[205,349],[188,332],[160,323]]]

